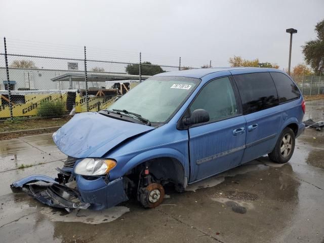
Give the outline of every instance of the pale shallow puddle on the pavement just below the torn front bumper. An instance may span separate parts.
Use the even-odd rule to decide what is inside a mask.
[[[73,210],[66,214],[62,211],[44,208],[40,211],[53,222],[81,222],[86,224],[108,223],[118,219],[121,215],[130,212],[130,209],[124,206],[112,207],[102,211]]]

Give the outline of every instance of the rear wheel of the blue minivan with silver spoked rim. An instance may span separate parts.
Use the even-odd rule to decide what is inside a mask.
[[[289,138],[291,138],[291,142],[288,141]],[[286,143],[286,141],[288,142]],[[274,149],[270,153],[268,153],[268,156],[273,162],[284,164],[287,163],[289,159],[291,159],[294,150],[295,150],[295,133],[293,132],[293,130],[287,127],[284,129],[284,131],[281,132],[274,146]]]

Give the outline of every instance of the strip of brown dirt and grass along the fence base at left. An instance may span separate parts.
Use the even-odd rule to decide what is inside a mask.
[[[30,130],[30,129],[40,129],[40,128],[42,128],[42,130],[1,134],[0,140],[55,132],[57,128],[55,129],[49,129],[49,128],[63,126],[70,119],[71,116],[65,116],[62,118],[51,118],[51,119],[15,117],[13,120],[2,120],[0,121],[0,133]]]

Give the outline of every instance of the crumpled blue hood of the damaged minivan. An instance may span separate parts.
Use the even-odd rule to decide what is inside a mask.
[[[53,139],[66,155],[75,158],[102,157],[125,139],[153,129],[97,112],[85,112],[74,115],[53,134]]]

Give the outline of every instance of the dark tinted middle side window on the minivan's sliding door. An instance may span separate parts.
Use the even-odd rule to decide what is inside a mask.
[[[249,114],[279,104],[277,90],[268,72],[233,75],[243,106]]]

